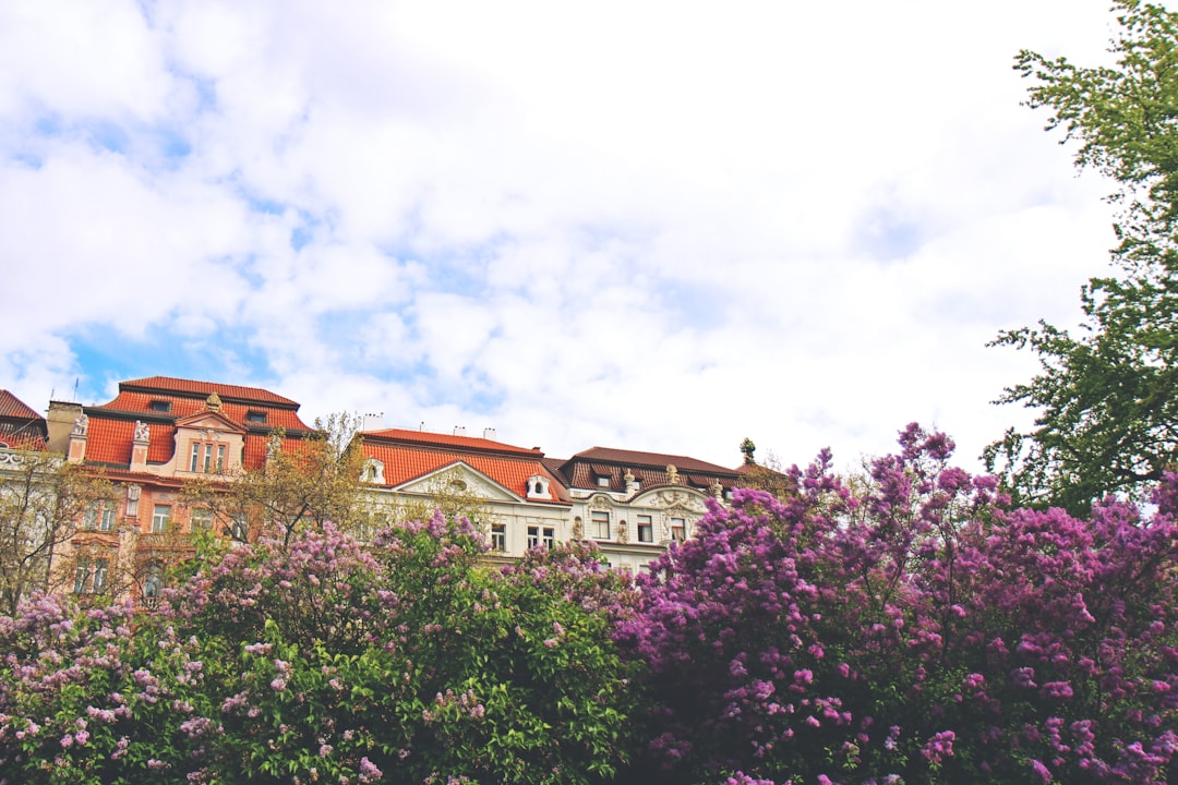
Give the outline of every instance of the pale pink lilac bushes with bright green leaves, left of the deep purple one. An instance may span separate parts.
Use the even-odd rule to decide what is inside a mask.
[[[598,610],[631,590],[591,551],[497,572],[484,547],[439,515],[368,550],[326,525],[154,613],[0,619],[0,781],[608,779],[635,697]]]

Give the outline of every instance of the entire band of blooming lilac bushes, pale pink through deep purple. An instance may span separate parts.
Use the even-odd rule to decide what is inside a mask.
[[[40,598],[0,618],[0,783],[1171,781],[1178,475],[1079,519],[900,444],[713,503],[636,586],[438,514],[276,530],[151,612]]]

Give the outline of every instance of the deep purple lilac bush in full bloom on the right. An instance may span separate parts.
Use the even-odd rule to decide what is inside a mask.
[[[1178,477],[1145,515],[1008,510],[909,426],[852,493],[739,491],[641,579],[648,781],[1165,783]]]

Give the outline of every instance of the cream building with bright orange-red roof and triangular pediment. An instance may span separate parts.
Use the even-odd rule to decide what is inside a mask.
[[[398,428],[360,435],[362,479],[385,517],[403,517],[392,511],[397,506],[423,510],[465,497],[485,511],[487,520],[475,523],[490,538],[491,557],[503,559],[573,534],[568,491],[537,448]]]

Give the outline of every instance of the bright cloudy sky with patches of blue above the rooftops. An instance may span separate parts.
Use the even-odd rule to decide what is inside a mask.
[[[0,388],[735,466],[1032,413],[1112,187],[1012,69],[1108,0],[0,4]]]

